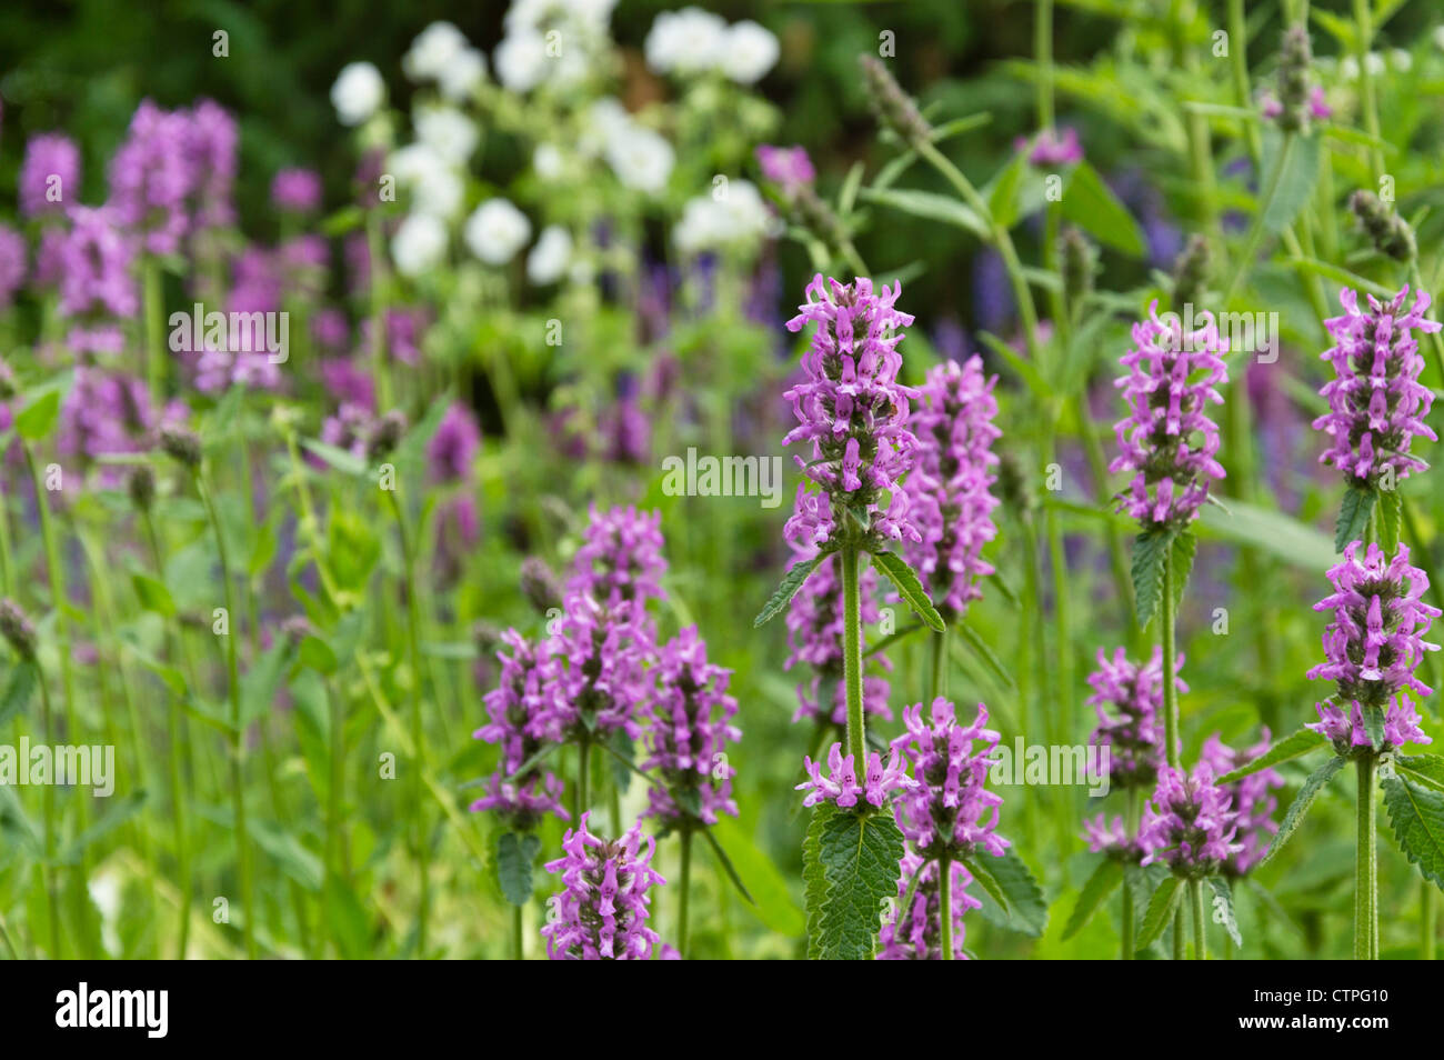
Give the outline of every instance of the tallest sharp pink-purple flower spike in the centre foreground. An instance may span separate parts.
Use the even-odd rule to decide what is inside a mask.
[[[855,537],[848,513],[862,523],[858,533],[877,542],[920,540],[898,488],[917,448],[908,414],[910,399],[918,396],[898,383],[902,355],[897,345],[901,329],[913,323],[895,309],[901,290],[901,283],[874,292],[866,277],[839,283],[819,273],[807,284],[801,312],[787,322],[788,331],[807,323],[817,329],[803,354],[806,378],[784,394],[799,426],[783,443],[812,442],[812,461],[796,459],[830,500],[830,507],[820,498],[807,505],[799,501],[787,521],[790,540],[823,544]],[[891,494],[887,510],[884,494]]]

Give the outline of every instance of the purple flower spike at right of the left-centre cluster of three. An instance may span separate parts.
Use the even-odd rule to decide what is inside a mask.
[[[644,816],[680,825],[697,817],[716,825],[719,813],[736,816],[726,745],[742,738],[732,725],[736,699],[728,695],[731,670],[708,661],[708,646],[689,625],[667,641],[657,659],[657,690],[645,706],[648,716],[644,770],[656,768],[666,789],[647,789]],[[679,797],[683,804],[679,804]],[[695,799],[695,804],[686,804]]]

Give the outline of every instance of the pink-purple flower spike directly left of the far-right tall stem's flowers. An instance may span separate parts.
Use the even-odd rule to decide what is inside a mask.
[[[1115,425],[1122,452],[1109,471],[1134,472],[1119,501],[1145,530],[1187,526],[1207,500],[1210,481],[1223,478],[1214,459],[1219,427],[1207,407],[1223,403],[1217,387],[1227,370],[1220,354],[1229,344],[1213,315],[1201,316],[1206,323],[1186,334],[1177,318],[1160,321],[1154,302],[1148,319],[1134,325],[1135,348],[1119,358],[1128,375],[1115,386],[1129,414]]]

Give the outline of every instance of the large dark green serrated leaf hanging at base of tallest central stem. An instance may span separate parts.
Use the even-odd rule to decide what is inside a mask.
[[[902,846],[891,813],[817,807],[803,843],[809,952],[817,959],[872,959],[882,900],[897,894]]]

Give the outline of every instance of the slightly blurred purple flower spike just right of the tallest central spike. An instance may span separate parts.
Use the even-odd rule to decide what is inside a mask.
[[[921,540],[902,552],[944,620],[982,596],[978,579],[993,572],[982,549],[998,533],[992,521],[998,505],[992,443],[1002,433],[993,426],[996,381],[983,375],[976,355],[962,365],[944,361],[928,371],[913,417],[918,449],[904,492]]]

